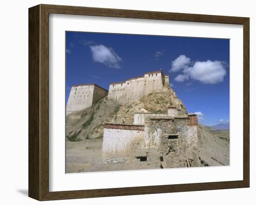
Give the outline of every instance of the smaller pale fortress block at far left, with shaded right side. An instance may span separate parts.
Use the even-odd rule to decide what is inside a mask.
[[[108,90],[105,90],[94,83],[73,85],[67,101],[66,115],[89,108],[95,102],[107,95]]]

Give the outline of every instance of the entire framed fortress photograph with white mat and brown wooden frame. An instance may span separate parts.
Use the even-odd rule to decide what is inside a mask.
[[[249,187],[249,18],[29,8],[29,197]]]

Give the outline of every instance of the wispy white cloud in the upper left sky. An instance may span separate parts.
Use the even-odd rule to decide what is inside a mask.
[[[122,59],[115,53],[112,48],[105,45],[90,45],[94,62],[105,64],[108,67],[120,69]]]

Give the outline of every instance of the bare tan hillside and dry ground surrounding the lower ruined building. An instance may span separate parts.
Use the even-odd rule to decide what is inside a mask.
[[[169,92],[155,92],[128,105],[104,97],[91,108],[67,115],[66,173],[143,169],[143,163],[131,163],[125,158],[118,161],[103,158],[104,123],[132,124],[135,112],[161,113],[172,105]],[[139,144],[140,141],[135,144],[137,152],[140,152]],[[187,149],[186,156],[193,159],[192,167],[229,165],[229,131],[212,131],[199,125],[197,147]],[[158,164],[148,166],[161,168]]]

